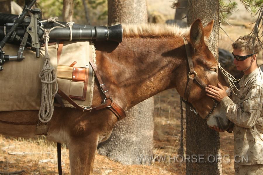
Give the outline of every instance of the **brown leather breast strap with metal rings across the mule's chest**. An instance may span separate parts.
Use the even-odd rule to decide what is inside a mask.
[[[91,67],[94,71],[94,74],[95,74],[96,78],[98,79],[101,91],[105,97],[102,104],[100,104],[96,107],[83,108],[83,107],[79,106],[78,104],[76,104],[70,97],[68,97],[61,90],[58,90],[58,94],[62,98],[67,100],[70,104],[72,104],[75,108],[81,110],[82,112],[85,112],[85,111],[92,112],[92,111],[97,111],[97,110],[100,110],[103,108],[108,108],[108,109],[110,109],[110,111],[112,111],[116,115],[118,120],[122,120],[123,118],[126,117],[124,110],[117,103],[115,103],[115,101],[113,101],[113,99],[110,97],[110,94],[108,92],[108,89],[105,86],[105,83],[103,83],[101,76],[98,74],[98,69],[97,69],[96,65],[92,61],[90,61],[89,64],[91,65]]]

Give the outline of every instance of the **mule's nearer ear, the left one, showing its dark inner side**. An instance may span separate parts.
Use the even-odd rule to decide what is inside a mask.
[[[191,25],[190,29],[190,41],[193,47],[198,47],[198,45],[204,42],[204,35],[203,35],[203,25],[200,19],[195,20]]]

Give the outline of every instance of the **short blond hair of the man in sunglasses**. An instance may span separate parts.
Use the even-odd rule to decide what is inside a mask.
[[[254,42],[255,41],[255,42]],[[254,45],[253,45],[254,42]],[[253,47],[254,46],[254,47]],[[259,53],[260,45],[257,38],[250,35],[240,36],[233,44],[233,49],[245,52],[247,54]]]

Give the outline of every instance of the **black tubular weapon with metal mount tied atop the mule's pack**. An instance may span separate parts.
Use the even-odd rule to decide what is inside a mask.
[[[30,9],[36,0],[25,4],[21,15],[0,14],[0,71],[3,65],[9,60],[22,61],[25,59],[23,51],[26,46],[31,47],[35,51],[36,57],[44,44],[42,38],[44,31],[42,29],[51,29],[60,25],[66,25],[66,22],[48,22],[42,19],[40,9]],[[25,17],[30,12],[31,17]],[[92,41],[114,41],[122,42],[122,26],[121,24],[114,26],[91,26],[86,24],[73,24],[72,28],[55,28],[49,33],[49,41],[68,41],[68,40],[92,40]],[[4,55],[2,48],[6,42],[15,44],[20,43],[18,53],[15,56]]]

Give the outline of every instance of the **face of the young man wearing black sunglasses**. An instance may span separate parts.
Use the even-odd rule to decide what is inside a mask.
[[[245,53],[245,52],[241,52],[239,50],[234,49],[233,54],[237,55],[237,56],[245,56],[245,55],[249,55],[251,53]],[[245,59],[243,61],[238,61],[238,60],[234,59],[233,63],[236,65],[236,69],[239,71],[244,71],[244,70],[248,69],[248,67],[250,67],[252,57],[253,56],[248,57],[247,59]]]

